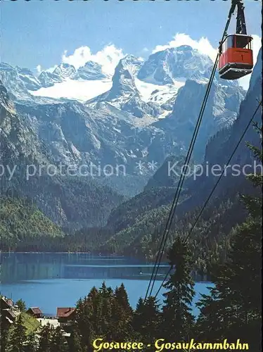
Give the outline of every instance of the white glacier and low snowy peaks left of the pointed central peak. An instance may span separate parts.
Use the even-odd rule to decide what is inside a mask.
[[[101,65],[92,61],[79,70],[67,63],[61,63],[52,72],[42,71],[39,77],[34,76],[27,68],[0,63],[0,79],[15,101],[86,101],[111,87],[110,77],[102,73]]]

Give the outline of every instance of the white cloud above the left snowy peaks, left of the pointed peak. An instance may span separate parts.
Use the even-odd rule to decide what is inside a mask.
[[[117,49],[113,44],[105,46],[96,54],[91,53],[89,46],[81,46],[75,49],[72,55],[67,55],[67,51],[65,51],[62,56],[62,62],[69,63],[77,69],[83,66],[87,61],[95,61],[102,65],[104,73],[113,75],[117,63],[123,57],[122,49]]]

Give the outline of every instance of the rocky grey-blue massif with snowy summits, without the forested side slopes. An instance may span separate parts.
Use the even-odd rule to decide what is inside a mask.
[[[167,156],[187,149],[212,61],[189,46],[180,46],[153,54],[145,62],[126,56],[113,77],[104,75],[101,65],[91,61],[78,70],[60,64],[36,80],[9,65],[0,68],[18,113],[56,162],[76,167],[119,163],[129,175],[137,175],[136,163],[143,161],[146,166],[140,175],[145,177],[154,172],[148,163],[160,165]],[[23,72],[41,88],[28,90]],[[212,134],[236,119],[244,94],[235,82],[215,77],[195,148],[196,160],[202,160]]]

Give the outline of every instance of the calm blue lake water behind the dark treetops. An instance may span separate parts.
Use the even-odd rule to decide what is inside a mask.
[[[0,253],[0,294],[14,301],[22,298],[27,306],[39,307],[55,315],[57,307],[74,307],[80,297],[103,281],[113,289],[123,282],[133,308],[148,287],[153,263],[124,257],[93,256],[89,253]],[[155,282],[155,294],[169,266],[162,264]],[[207,294],[209,282],[195,283],[194,303]],[[162,301],[160,290],[158,298]],[[193,306],[193,313],[198,309]]]

